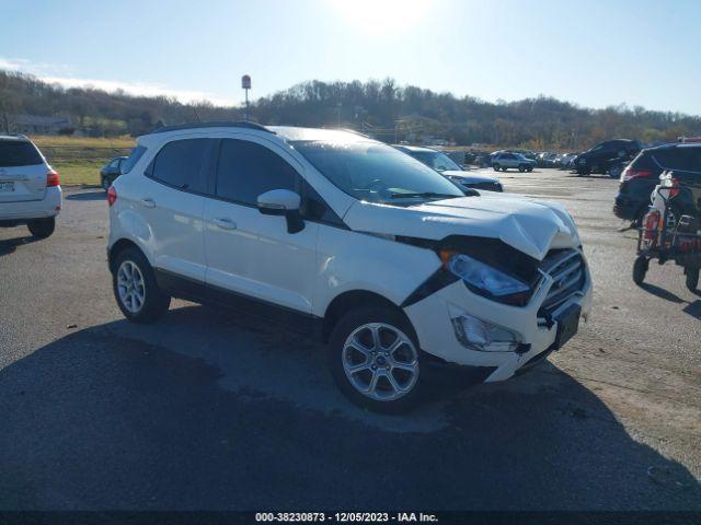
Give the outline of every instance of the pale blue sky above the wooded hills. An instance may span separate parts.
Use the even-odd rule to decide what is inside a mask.
[[[310,79],[701,115],[701,1],[0,0],[0,69],[181,100]]]

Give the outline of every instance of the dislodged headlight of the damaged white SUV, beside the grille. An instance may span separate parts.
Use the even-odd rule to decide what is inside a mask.
[[[525,304],[528,299],[528,284],[467,255],[453,255],[447,268],[480,295],[518,305]]]

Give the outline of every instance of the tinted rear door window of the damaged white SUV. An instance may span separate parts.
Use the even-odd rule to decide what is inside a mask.
[[[177,189],[205,192],[205,159],[212,142],[211,139],[169,142],[156,155],[150,176]]]

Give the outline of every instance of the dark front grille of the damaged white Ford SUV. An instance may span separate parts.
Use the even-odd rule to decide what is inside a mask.
[[[545,317],[582,290],[585,281],[584,259],[576,249],[551,250],[539,267],[553,279],[545,301],[538,311]]]

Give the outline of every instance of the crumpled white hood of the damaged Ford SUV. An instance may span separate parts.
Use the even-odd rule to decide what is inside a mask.
[[[439,241],[449,235],[498,238],[542,260],[552,248],[575,248],[579,237],[561,205],[492,194],[397,207],[354,203],[344,217],[354,231]]]

